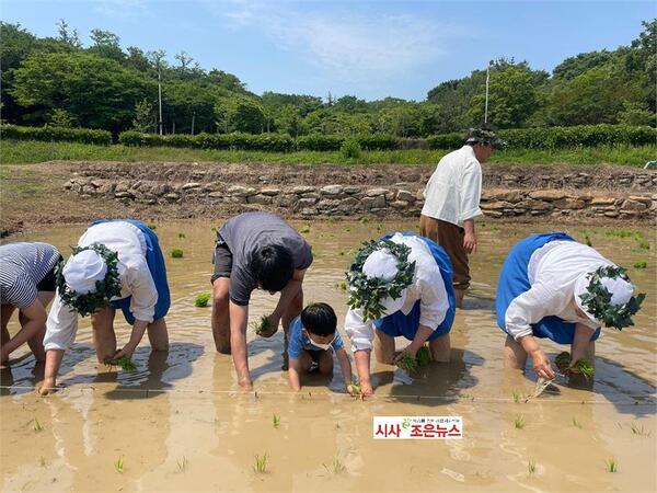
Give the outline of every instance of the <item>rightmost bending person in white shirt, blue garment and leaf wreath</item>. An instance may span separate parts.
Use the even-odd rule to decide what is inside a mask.
[[[623,268],[568,234],[526,238],[509,252],[497,285],[497,324],[507,333],[505,368],[525,369],[529,354],[537,375],[553,379],[537,337],[570,344],[570,371],[580,358],[593,363],[601,325],[633,324],[644,298],[633,293]]]

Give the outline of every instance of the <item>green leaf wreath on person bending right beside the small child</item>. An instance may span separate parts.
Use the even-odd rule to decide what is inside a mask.
[[[353,309],[362,308],[364,321],[377,320],[383,316],[385,307],[382,299],[397,299],[402,291],[413,283],[415,262],[408,262],[411,248],[391,240],[369,241],[356,254],[356,259],[346,273],[349,285],[347,305]],[[368,277],[362,272],[367,257],[377,250],[388,250],[396,257],[397,275],[394,279],[384,280],[379,277]]]

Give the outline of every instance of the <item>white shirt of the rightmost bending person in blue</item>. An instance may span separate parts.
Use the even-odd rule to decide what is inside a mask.
[[[549,316],[597,329],[596,322],[579,317],[575,310],[575,283],[603,265],[613,263],[576,241],[551,241],[533,252],[528,265],[531,288],[507,308],[507,333],[516,341],[530,335],[531,324]]]

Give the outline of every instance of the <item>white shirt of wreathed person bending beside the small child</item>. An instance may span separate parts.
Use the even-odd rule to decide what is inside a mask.
[[[415,262],[413,283],[405,289],[401,311],[411,313],[417,300],[419,305],[419,323],[434,330],[445,320],[449,310],[449,300],[440,268],[431,255],[426,243],[417,237],[404,237],[395,233],[392,238],[395,243],[403,243],[411,248],[408,262]],[[384,313],[391,314],[391,313]],[[374,340],[374,322],[362,320],[362,308],[349,309],[345,318],[345,332],[351,340],[351,351],[371,349]]]

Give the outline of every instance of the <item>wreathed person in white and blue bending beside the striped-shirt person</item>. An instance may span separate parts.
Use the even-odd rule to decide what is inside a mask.
[[[100,363],[132,356],[143,333],[154,351],[169,348],[164,316],[171,305],[166,267],[158,237],[129,219],[93,222],[57,273],[57,296],[48,314],[42,393],[55,387],[65,351],[73,343],[78,316],[91,314]],[[116,349],[114,317],[120,309],[132,325],[128,343]]]

